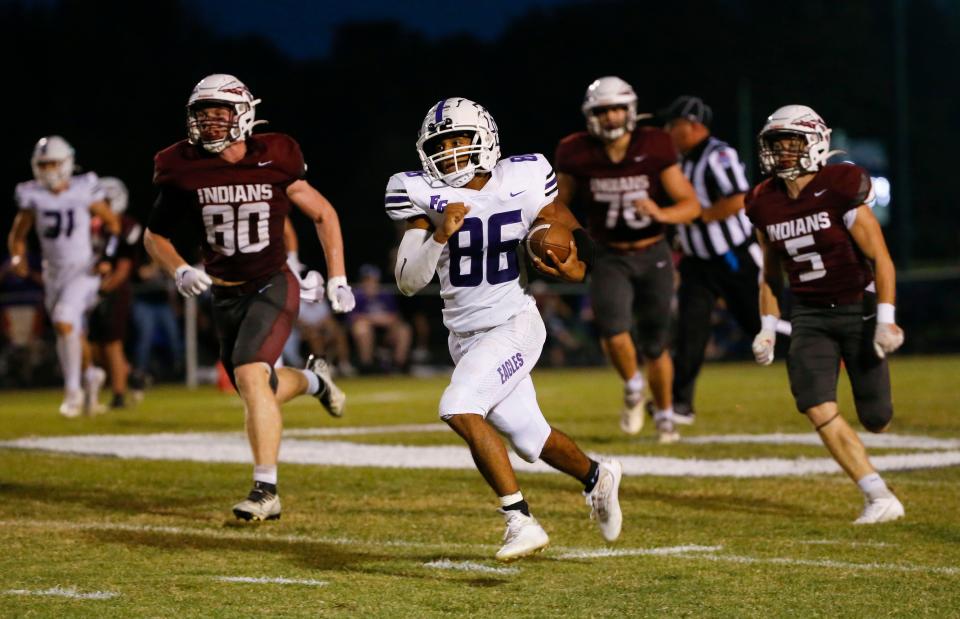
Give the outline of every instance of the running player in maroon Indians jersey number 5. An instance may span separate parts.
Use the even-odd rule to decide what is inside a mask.
[[[880,224],[867,204],[870,176],[852,164],[828,165],[830,129],[809,107],[788,105],[767,118],[760,167],[771,178],[746,197],[764,250],[757,362],[773,361],[775,291],[785,271],[796,299],[787,357],[797,409],[864,495],[855,524],[896,520],[903,505],[870,464],[860,437],[837,409],[841,360],[857,416],[870,432],[893,418],[886,356],[903,343],[894,320],[896,275]]]

